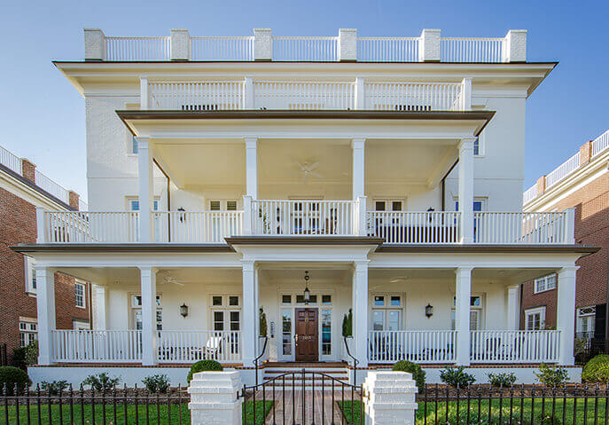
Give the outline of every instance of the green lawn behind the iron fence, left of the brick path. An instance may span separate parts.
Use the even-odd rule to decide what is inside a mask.
[[[266,409],[262,412],[262,401],[256,401],[256,423],[255,425],[262,425],[264,423],[265,413],[270,412],[273,402],[267,401]],[[47,425],[49,423],[54,424],[80,424],[89,423],[104,423],[104,406],[95,405],[95,421],[93,421],[93,410],[91,405],[84,405],[81,410],[81,405],[74,405],[74,416],[70,416],[70,406],[62,405],[61,411],[59,411],[59,405],[51,405],[51,421],[49,421],[49,406],[40,406],[40,415],[38,414],[38,407],[36,405],[29,406],[29,418],[31,424],[37,424],[38,418],[40,417],[40,423]],[[191,413],[188,410],[188,404],[183,403],[182,405],[159,405],[159,416],[157,420],[157,406],[149,405],[146,415],[146,406],[127,405],[127,415],[125,416],[124,405],[116,405],[116,417],[114,417],[113,405],[105,405],[105,423],[112,423],[113,425],[134,425],[134,424],[146,424],[152,425],[157,424],[168,424],[169,414],[171,414],[171,423],[180,423],[180,413],[182,413],[182,424],[189,425],[191,423]],[[180,408],[181,407],[181,408]],[[181,411],[181,412],[180,412]],[[84,418],[82,419],[82,412],[84,412]],[[8,406],[8,423],[11,425],[26,425],[27,424],[27,406],[20,405],[19,409],[19,422],[17,421],[17,409],[14,405]],[[127,421],[125,421],[125,417]],[[146,421],[146,417],[149,421]],[[136,421],[137,418],[137,421]],[[73,419],[71,421],[71,419]],[[251,401],[246,403],[246,423],[248,425],[254,425],[254,404]],[[0,405],[0,424],[6,424],[6,411],[4,405]],[[244,424],[245,425],[245,424]]]

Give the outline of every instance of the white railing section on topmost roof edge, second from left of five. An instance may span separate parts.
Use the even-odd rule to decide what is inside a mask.
[[[254,37],[191,37],[192,60],[254,60]]]

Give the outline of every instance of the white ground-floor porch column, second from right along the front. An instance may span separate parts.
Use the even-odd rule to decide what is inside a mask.
[[[456,271],[455,329],[457,330],[457,365],[470,364],[470,303],[472,297],[472,267]]]

